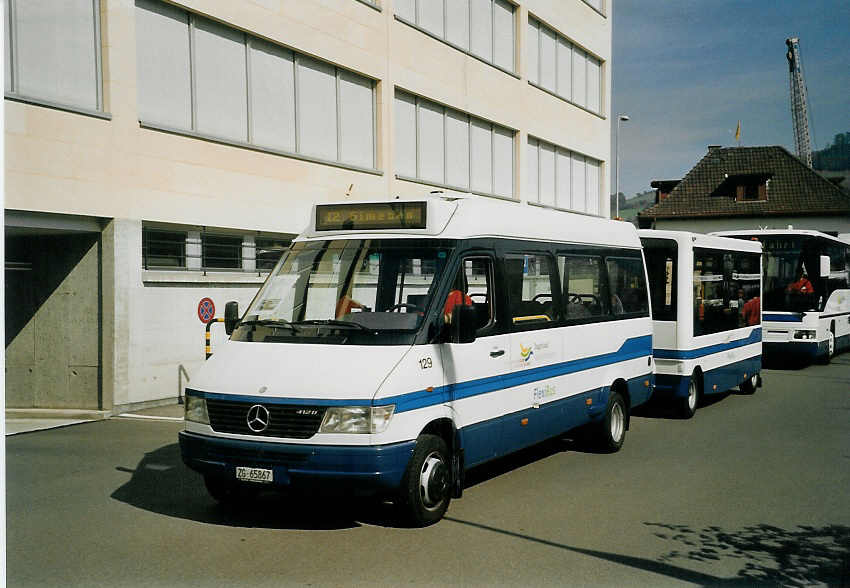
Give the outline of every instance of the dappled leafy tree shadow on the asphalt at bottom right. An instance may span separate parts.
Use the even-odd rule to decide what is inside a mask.
[[[755,525],[735,531],[693,530],[683,525],[645,523],[655,536],[680,543],[659,562],[740,560],[737,580],[745,584],[811,586],[850,584],[850,527],[799,526],[786,530]]]

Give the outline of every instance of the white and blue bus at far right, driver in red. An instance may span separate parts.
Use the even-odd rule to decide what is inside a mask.
[[[764,354],[829,363],[850,348],[850,244],[807,230],[714,233],[764,246]]]

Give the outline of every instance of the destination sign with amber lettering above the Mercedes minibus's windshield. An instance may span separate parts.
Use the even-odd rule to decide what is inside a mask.
[[[319,204],[317,231],[363,231],[426,228],[427,202]]]

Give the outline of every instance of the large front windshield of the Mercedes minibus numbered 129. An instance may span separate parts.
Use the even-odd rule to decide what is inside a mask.
[[[415,332],[452,247],[424,239],[295,243],[257,293],[235,338],[334,342],[327,335],[336,333],[344,341],[374,344],[382,333]]]

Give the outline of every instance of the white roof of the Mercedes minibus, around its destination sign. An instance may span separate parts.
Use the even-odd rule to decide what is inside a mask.
[[[296,241],[328,238],[378,239],[422,238],[471,239],[482,237],[540,240],[561,243],[581,243],[614,247],[639,248],[637,230],[631,223],[613,221],[598,216],[553,210],[532,204],[495,200],[483,196],[425,198],[332,203],[368,205],[398,203],[427,203],[427,223],[424,228],[392,228],[382,230],[317,229],[317,208],[314,205],[308,228]],[[353,208],[353,207],[352,207]],[[337,208],[338,210],[338,208]]]

